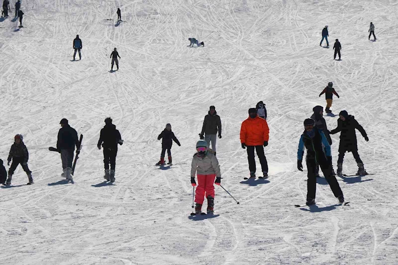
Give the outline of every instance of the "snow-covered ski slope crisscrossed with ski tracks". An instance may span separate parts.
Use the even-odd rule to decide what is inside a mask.
[[[116,26],[117,7],[126,21]],[[19,30],[0,19],[0,158],[23,134],[35,184],[18,168],[0,189],[0,264],[397,263],[397,1],[22,0],[21,9]],[[370,21],[377,42],[366,39]],[[342,61],[318,45],[325,24]],[[76,34],[84,56],[71,62]],[[188,48],[188,37],[205,47]],[[114,47],[120,71],[109,73]],[[325,106],[318,94],[330,81],[334,113],[346,109],[369,135],[357,133],[359,153],[376,175],[338,179],[351,206],[336,206],[321,178],[317,207],[295,208],[306,193],[296,168],[302,121]],[[259,100],[270,177],[247,183],[239,130]],[[192,220],[190,165],[210,105],[223,126],[222,185],[240,205],[216,187],[215,217]],[[107,116],[125,140],[114,185],[102,182],[96,147]],[[60,157],[47,150],[64,117],[85,135],[74,184],[60,181]],[[182,146],[159,170],[157,136],[169,122]],[[347,154],[344,172],[356,170]]]

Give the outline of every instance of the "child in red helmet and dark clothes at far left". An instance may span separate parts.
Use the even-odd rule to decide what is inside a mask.
[[[11,160],[12,164],[8,170],[6,185],[11,185],[12,175],[14,174],[14,171],[19,164],[22,166],[23,171],[26,172],[26,175],[28,176],[29,182],[27,183],[27,185],[33,184],[32,172],[28,168],[29,153],[28,149],[23,143],[23,137],[21,134],[17,134],[14,137],[14,143],[11,145],[11,149],[9,150],[9,155],[7,159],[8,166]]]

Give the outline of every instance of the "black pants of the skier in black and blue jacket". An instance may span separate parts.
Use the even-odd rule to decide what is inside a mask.
[[[315,193],[316,193],[316,161],[314,158],[306,158],[306,164],[307,164],[307,199],[315,199]],[[320,169],[323,172],[323,176],[325,176],[325,179],[327,183],[329,183],[330,188],[332,189],[332,192],[334,196],[337,198],[340,195],[343,195],[343,192],[341,191],[340,185],[337,182],[336,177],[332,175],[332,167],[328,163],[322,163],[319,165]]]

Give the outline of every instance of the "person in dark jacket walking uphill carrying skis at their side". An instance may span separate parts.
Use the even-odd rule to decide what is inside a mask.
[[[68,124],[68,120],[65,118],[59,124],[61,124],[61,129],[58,131],[57,149],[61,154],[63,169],[61,176],[68,180],[73,180],[71,174],[75,146],[77,148],[76,154],[80,153],[78,133]]]

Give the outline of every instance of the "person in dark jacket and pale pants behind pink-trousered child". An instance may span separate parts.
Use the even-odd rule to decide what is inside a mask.
[[[210,106],[210,110],[208,114],[204,116],[202,130],[199,133],[199,138],[201,140],[205,140],[207,142],[207,146],[210,147],[214,152],[214,156],[216,155],[216,141],[217,141],[217,131],[218,138],[222,138],[221,136],[221,119],[220,116],[217,115],[217,111],[215,111],[214,106]],[[204,134],[204,137],[203,137]]]

